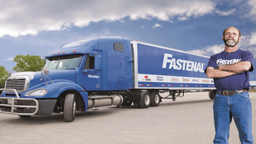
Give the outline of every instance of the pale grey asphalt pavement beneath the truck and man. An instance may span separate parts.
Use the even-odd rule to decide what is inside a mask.
[[[256,93],[250,99],[256,141]],[[147,109],[131,105],[78,112],[74,122],[64,122],[63,113],[29,118],[0,114],[0,143],[213,143],[212,106],[207,92],[191,92]],[[240,143],[234,121],[229,143]]]

